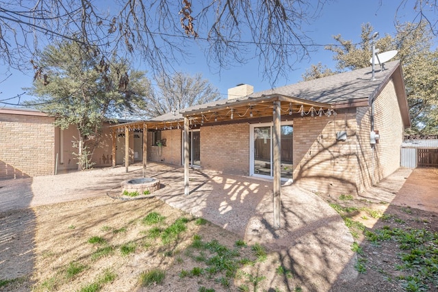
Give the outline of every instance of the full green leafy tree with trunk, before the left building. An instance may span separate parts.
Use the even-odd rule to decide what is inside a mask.
[[[78,168],[88,166],[108,118],[142,107],[150,83],[127,62],[108,62],[76,42],[47,46],[33,61],[36,74],[29,104],[55,117],[55,125],[77,127]]]

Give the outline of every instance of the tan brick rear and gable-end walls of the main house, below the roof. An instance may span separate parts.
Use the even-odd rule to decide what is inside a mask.
[[[392,75],[377,85],[378,90],[371,90],[371,97],[367,93],[359,101],[337,102],[336,114],[281,115],[283,181],[292,180],[311,191],[359,194],[400,167],[400,145],[404,128],[409,127],[409,114],[404,85],[400,85],[401,69],[394,68],[387,74]],[[257,119],[193,124],[189,135],[190,165],[272,178],[272,125],[269,120]],[[380,135],[376,144],[371,144],[371,129]],[[166,146],[148,145],[148,160],[181,165],[181,129],[159,132],[166,139]],[[339,137],[339,133],[345,135]]]

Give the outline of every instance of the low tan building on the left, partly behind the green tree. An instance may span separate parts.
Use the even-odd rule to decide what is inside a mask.
[[[54,118],[40,111],[0,109],[0,180],[77,169],[73,154],[77,152],[73,148],[77,129],[71,126],[61,130],[53,122]],[[92,161],[96,166],[112,165],[112,136],[109,126],[109,123],[104,124],[102,144],[94,151]],[[120,137],[116,139],[120,140]],[[136,135],[131,135],[130,139],[131,145],[138,144]],[[120,150],[124,151],[123,144],[119,144]],[[141,161],[142,158],[139,159]],[[137,159],[132,155],[130,162],[135,160]]]

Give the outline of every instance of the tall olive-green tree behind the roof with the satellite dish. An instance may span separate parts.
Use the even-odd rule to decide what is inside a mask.
[[[398,50],[396,59],[402,62],[404,83],[410,108],[412,127],[410,134],[436,135],[438,133],[438,51],[433,49],[433,31],[426,23],[404,23],[396,27],[395,37],[386,34],[377,38],[380,52]],[[341,35],[333,38],[339,43],[325,49],[334,53],[337,70],[355,70],[370,66],[372,34],[368,23],[362,26],[361,42],[344,40]],[[303,78],[324,77],[324,67],[313,66],[311,74]]]

